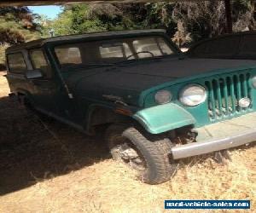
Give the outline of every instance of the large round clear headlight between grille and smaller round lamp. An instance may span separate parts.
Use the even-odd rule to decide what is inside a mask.
[[[207,91],[198,84],[190,84],[182,89],[179,94],[179,100],[185,106],[194,107],[207,99]]]

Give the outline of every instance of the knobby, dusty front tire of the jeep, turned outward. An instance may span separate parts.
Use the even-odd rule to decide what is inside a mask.
[[[115,147],[121,143],[130,142],[130,147],[135,148],[143,159],[145,170],[138,170],[138,172],[144,182],[159,184],[168,181],[177,170],[177,164],[171,162],[172,160],[168,156],[173,147],[172,142],[163,135],[151,135],[143,130],[139,131],[135,127],[113,124],[106,131],[106,139],[110,152],[116,160],[121,158],[113,153]]]

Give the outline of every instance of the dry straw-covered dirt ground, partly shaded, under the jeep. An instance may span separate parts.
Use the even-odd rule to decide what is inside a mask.
[[[3,74],[0,212],[162,212],[165,199],[250,199],[247,212],[255,212],[255,143],[231,150],[224,165],[212,155],[181,161],[172,181],[149,186],[109,158],[102,136],[32,116],[9,100]]]

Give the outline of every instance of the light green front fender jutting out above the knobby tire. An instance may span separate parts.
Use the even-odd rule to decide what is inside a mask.
[[[168,103],[149,107],[136,112],[132,118],[142,124],[152,134],[160,134],[169,130],[195,124],[195,118],[183,107]]]

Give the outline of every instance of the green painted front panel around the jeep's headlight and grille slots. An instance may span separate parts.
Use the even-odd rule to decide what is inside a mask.
[[[215,73],[215,74],[214,74]],[[247,87],[250,89],[251,91],[251,95],[249,95],[249,97],[251,98],[252,100],[252,106],[250,108],[247,108],[246,110],[241,110],[240,107],[238,107],[239,111],[236,111],[236,108],[235,108],[235,102],[234,102],[234,98],[236,97],[235,93],[238,95],[238,98],[240,97],[241,98],[241,83],[236,83],[237,87],[240,88],[238,90],[240,91],[237,91],[236,92],[236,88],[235,88],[235,83],[234,83],[234,80],[231,80],[230,81],[230,96],[232,97],[232,102],[230,103],[231,104],[231,109],[232,109],[232,112],[230,113],[224,113],[222,112],[222,108],[219,107],[219,104],[222,104],[223,101],[224,103],[227,101],[225,100],[225,98],[223,98],[225,95],[226,95],[226,89],[224,89],[224,94],[221,94],[221,92],[219,91],[219,89],[217,89],[217,97],[215,98],[215,102],[213,101],[213,107],[214,108],[217,108],[218,107],[218,110],[220,110],[220,114],[219,116],[216,114],[215,111],[213,111],[213,116],[214,118],[211,119],[208,115],[208,102],[205,101],[203,103],[201,103],[200,105],[198,106],[195,106],[195,107],[186,107],[186,106],[183,106],[183,104],[178,100],[179,99],[179,91],[181,89],[183,89],[184,86],[188,85],[188,84],[192,84],[192,83],[197,83],[197,84],[200,84],[202,86],[205,86],[205,83],[206,82],[209,82],[209,90],[207,89],[207,100],[210,99],[210,100],[214,100],[214,97],[213,97],[213,92],[212,92],[212,89],[213,89],[213,85],[212,85],[212,80],[213,79],[219,79],[219,78],[228,78],[228,77],[232,77],[234,75],[236,76],[239,76],[239,75],[245,75],[245,73],[250,73],[250,78],[253,78],[253,76],[256,75],[256,68],[255,67],[251,67],[251,68],[237,68],[236,70],[233,69],[233,70],[223,70],[222,72],[214,72],[214,73],[207,73],[208,75],[204,74],[204,75],[201,75],[201,78],[200,77],[197,77],[197,78],[186,78],[186,80],[184,81],[183,79],[183,82],[182,82],[182,79],[178,79],[176,83],[174,83],[172,81],[172,83],[164,83],[164,84],[161,84],[159,86],[157,86],[156,88],[151,88],[151,89],[148,89],[147,92],[144,91],[143,94],[146,95],[144,96],[141,100],[143,100],[143,106],[144,107],[154,107],[154,106],[157,106],[157,103],[154,101],[154,95],[155,93],[160,90],[160,89],[167,89],[169,91],[172,92],[172,103],[175,103],[177,104],[177,106],[179,107],[183,107],[184,110],[186,110],[187,112],[189,112],[196,120],[195,122],[195,127],[201,127],[203,125],[207,125],[207,124],[212,124],[212,123],[217,123],[219,121],[222,121],[222,120],[225,120],[225,119],[230,119],[230,118],[235,118],[235,117],[238,117],[238,116],[241,116],[242,114],[245,114],[247,112],[253,112],[256,110],[256,99],[254,97],[256,97],[256,89],[253,89],[253,86],[252,86],[252,83],[251,83],[251,79],[249,79],[248,81],[248,85]],[[188,80],[189,79],[189,80]],[[225,86],[225,83],[224,83],[224,86]],[[176,116],[176,115],[174,115]]]

